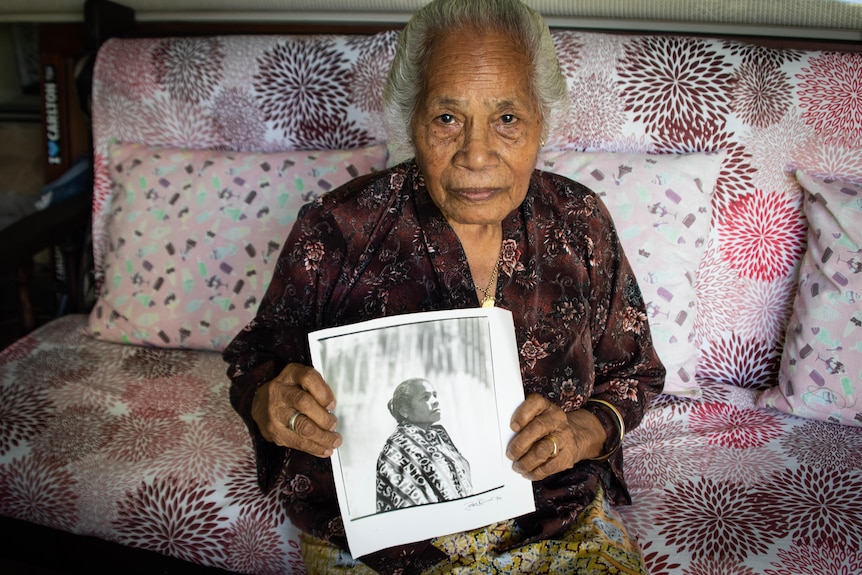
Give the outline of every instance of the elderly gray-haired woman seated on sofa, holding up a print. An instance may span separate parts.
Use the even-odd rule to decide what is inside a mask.
[[[384,99],[415,158],[303,209],[225,351],[263,489],[284,494],[310,573],[642,572],[610,505],[629,502],[620,443],[664,368],[606,208],[534,169],[567,101],[547,25],[518,0],[434,0],[403,31]],[[327,458],[351,438],[307,334],[479,305],[514,316],[526,399],[507,455],[536,511],[346,561]]]

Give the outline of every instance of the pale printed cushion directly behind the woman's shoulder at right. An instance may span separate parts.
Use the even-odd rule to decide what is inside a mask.
[[[543,151],[539,169],[576,180],[607,205],[647,305],[667,369],[664,392],[699,397],[695,274],[706,247],[724,152]]]

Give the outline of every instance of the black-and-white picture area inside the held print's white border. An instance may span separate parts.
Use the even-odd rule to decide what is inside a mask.
[[[344,437],[345,519],[502,486],[486,317],[358,331],[319,345]]]

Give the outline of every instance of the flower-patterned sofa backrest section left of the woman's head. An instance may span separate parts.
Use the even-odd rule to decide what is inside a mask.
[[[385,140],[397,34],[111,39],[93,78],[93,244],[101,281],[108,147],[337,150]]]

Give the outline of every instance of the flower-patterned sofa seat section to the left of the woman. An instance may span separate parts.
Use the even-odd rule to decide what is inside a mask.
[[[302,572],[221,355],[96,340],[87,324],[67,315],[0,352],[0,515],[235,573]]]

